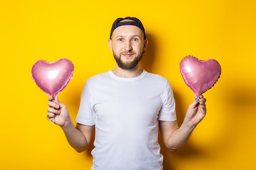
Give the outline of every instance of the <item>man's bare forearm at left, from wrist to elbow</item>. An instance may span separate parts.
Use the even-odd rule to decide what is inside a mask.
[[[74,126],[71,119],[67,121],[64,126],[61,126],[61,128],[65,133],[68,143],[77,152],[83,152],[88,147],[85,136]]]

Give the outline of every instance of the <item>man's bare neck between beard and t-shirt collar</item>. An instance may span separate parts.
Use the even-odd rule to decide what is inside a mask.
[[[112,70],[113,73],[118,76],[118,77],[123,77],[123,78],[132,78],[132,77],[138,77],[141,75],[143,70],[139,68],[139,66],[136,66],[135,68],[132,69],[122,69],[118,66],[114,70]]]

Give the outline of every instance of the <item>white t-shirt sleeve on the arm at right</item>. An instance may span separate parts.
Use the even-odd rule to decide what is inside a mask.
[[[175,121],[177,119],[173,90],[168,81],[166,83],[166,88],[163,92],[163,105],[159,111],[158,119],[161,121]]]

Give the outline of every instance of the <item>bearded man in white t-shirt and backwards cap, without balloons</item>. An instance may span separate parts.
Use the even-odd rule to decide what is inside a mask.
[[[88,147],[95,128],[92,170],[162,170],[158,128],[167,149],[176,152],[206,115],[206,99],[195,96],[179,127],[168,80],[139,68],[148,44],[140,20],[118,18],[108,44],[116,68],[87,80],[76,127],[58,97],[49,97],[47,117],[77,152]]]

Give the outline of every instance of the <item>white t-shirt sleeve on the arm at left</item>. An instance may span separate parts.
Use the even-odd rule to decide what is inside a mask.
[[[81,93],[81,101],[76,116],[76,122],[83,125],[95,125],[95,112],[91,106],[91,93],[89,82],[85,82],[83,91]]]

